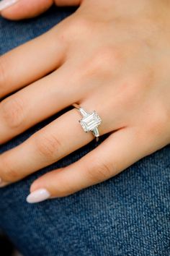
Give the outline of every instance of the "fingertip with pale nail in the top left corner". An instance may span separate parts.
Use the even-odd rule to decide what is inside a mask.
[[[22,20],[45,12],[52,4],[53,0],[2,0],[0,13],[9,20]]]

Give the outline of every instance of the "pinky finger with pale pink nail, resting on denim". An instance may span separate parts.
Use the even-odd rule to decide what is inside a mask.
[[[86,187],[104,182],[147,155],[134,129],[112,133],[101,145],[76,163],[41,176],[31,186],[27,202],[41,202],[71,195]]]

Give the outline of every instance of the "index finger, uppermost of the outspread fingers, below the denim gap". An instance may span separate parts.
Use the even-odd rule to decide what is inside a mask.
[[[54,27],[48,33],[1,56],[0,98],[52,72],[60,66],[64,52],[65,43],[59,29]]]

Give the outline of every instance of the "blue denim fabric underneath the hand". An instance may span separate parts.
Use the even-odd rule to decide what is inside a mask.
[[[23,22],[0,19],[0,53],[44,33],[73,11],[53,8]],[[0,153],[61,114],[1,145]],[[75,195],[35,205],[25,201],[37,176],[67,166],[95,146],[91,142],[58,163],[0,189],[1,229],[24,256],[169,256],[169,146]]]

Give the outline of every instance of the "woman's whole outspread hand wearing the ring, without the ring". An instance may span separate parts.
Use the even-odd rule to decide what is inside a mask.
[[[84,0],[45,35],[1,56],[0,142],[79,103],[102,117],[101,145],[31,186],[28,202],[63,197],[115,176],[170,142],[170,4]],[[16,68],[17,67],[17,68]],[[0,156],[1,186],[94,139],[72,109]]]

